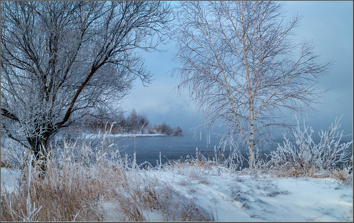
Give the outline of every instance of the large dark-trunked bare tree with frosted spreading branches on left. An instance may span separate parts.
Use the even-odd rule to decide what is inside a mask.
[[[133,80],[150,83],[139,52],[165,42],[170,20],[159,1],[2,1],[2,132],[45,154],[55,134],[122,100]]]

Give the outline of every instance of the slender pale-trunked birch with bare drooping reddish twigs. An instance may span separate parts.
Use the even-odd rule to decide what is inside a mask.
[[[286,126],[286,109],[304,114],[319,103],[318,82],[331,65],[316,62],[308,41],[294,43],[293,28],[301,17],[283,20],[276,1],[182,1],[176,7],[173,39],[181,75],[177,87],[188,88],[191,101],[204,114],[210,133],[225,127],[221,144],[236,139],[254,148],[270,139],[272,128]],[[209,135],[209,134],[207,134]],[[236,138],[237,137],[237,138]]]

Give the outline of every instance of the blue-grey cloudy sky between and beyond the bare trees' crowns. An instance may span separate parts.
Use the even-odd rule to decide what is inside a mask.
[[[172,4],[177,4],[173,1]],[[294,29],[298,34],[297,42],[305,38],[313,40],[314,51],[320,56],[320,62],[333,58],[335,65],[329,76],[321,80],[321,88],[332,87],[325,96],[323,104],[315,106],[319,112],[310,113],[309,125],[315,132],[327,130],[336,116],[341,119],[344,134],[353,133],[353,2],[352,1],[286,1],[286,19],[291,19],[294,13],[303,15],[301,25]],[[139,113],[145,113],[151,124],[166,121],[171,127],[180,126],[185,132],[198,126],[195,106],[189,103],[186,91],[177,95],[173,91],[180,77],[171,77],[171,69],[177,64],[172,62],[176,53],[175,43],[160,49],[168,52],[144,53],[145,66],[154,73],[155,80],[147,88],[136,80],[135,89],[121,104],[124,109],[135,108]],[[201,119],[199,119],[200,122]],[[218,130],[215,129],[215,132]],[[351,138],[351,137],[350,137]]]

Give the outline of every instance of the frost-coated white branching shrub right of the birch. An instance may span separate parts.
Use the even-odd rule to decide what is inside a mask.
[[[286,134],[284,135],[284,145],[278,144],[276,151],[272,151],[270,161],[267,163],[269,167],[282,166],[292,168],[293,171],[304,171],[307,173],[309,169],[330,170],[339,165],[348,165],[350,160],[349,147],[353,143],[341,143],[344,136],[343,131],[339,132],[341,119],[335,120],[328,131],[319,132],[320,141],[315,143],[312,133],[312,127],[303,124],[300,127],[297,120],[297,127],[292,129],[293,140],[290,140]],[[353,156],[352,156],[353,157]],[[351,164],[352,165],[352,164]]]

